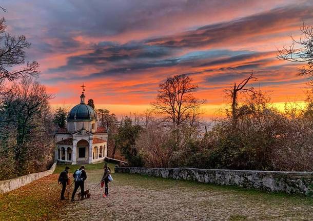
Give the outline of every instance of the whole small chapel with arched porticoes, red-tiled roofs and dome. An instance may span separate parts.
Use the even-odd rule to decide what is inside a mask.
[[[97,116],[85,103],[84,85],[81,102],[67,116],[65,128],[55,133],[55,160],[67,164],[93,164],[107,157],[108,133],[97,125]]]

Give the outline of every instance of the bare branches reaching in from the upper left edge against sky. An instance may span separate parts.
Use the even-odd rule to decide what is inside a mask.
[[[34,76],[38,74],[38,63],[25,61],[25,49],[30,47],[24,35],[11,36],[4,34],[6,29],[5,19],[0,19],[0,84],[5,80],[14,81],[15,79]],[[26,65],[25,65],[26,63]],[[22,67],[22,65],[25,65]],[[19,69],[12,67],[18,66]]]

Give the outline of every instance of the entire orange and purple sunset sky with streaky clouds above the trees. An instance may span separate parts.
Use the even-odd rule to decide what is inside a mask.
[[[224,89],[253,73],[273,102],[304,99],[307,79],[278,61],[277,48],[313,25],[313,1],[2,1],[7,30],[32,44],[29,61],[55,94],[51,104],[79,103],[81,85],[96,108],[141,112],[158,85],[190,74],[206,116],[227,102]]]

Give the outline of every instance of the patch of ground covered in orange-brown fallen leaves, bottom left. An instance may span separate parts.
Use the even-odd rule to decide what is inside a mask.
[[[67,202],[60,201],[58,174],[52,174],[0,195],[0,220],[58,220]]]

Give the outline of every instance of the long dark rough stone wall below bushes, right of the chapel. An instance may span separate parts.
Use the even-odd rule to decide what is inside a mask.
[[[205,170],[193,168],[119,167],[115,173],[136,173],[201,183],[256,188],[313,196],[313,172]]]

